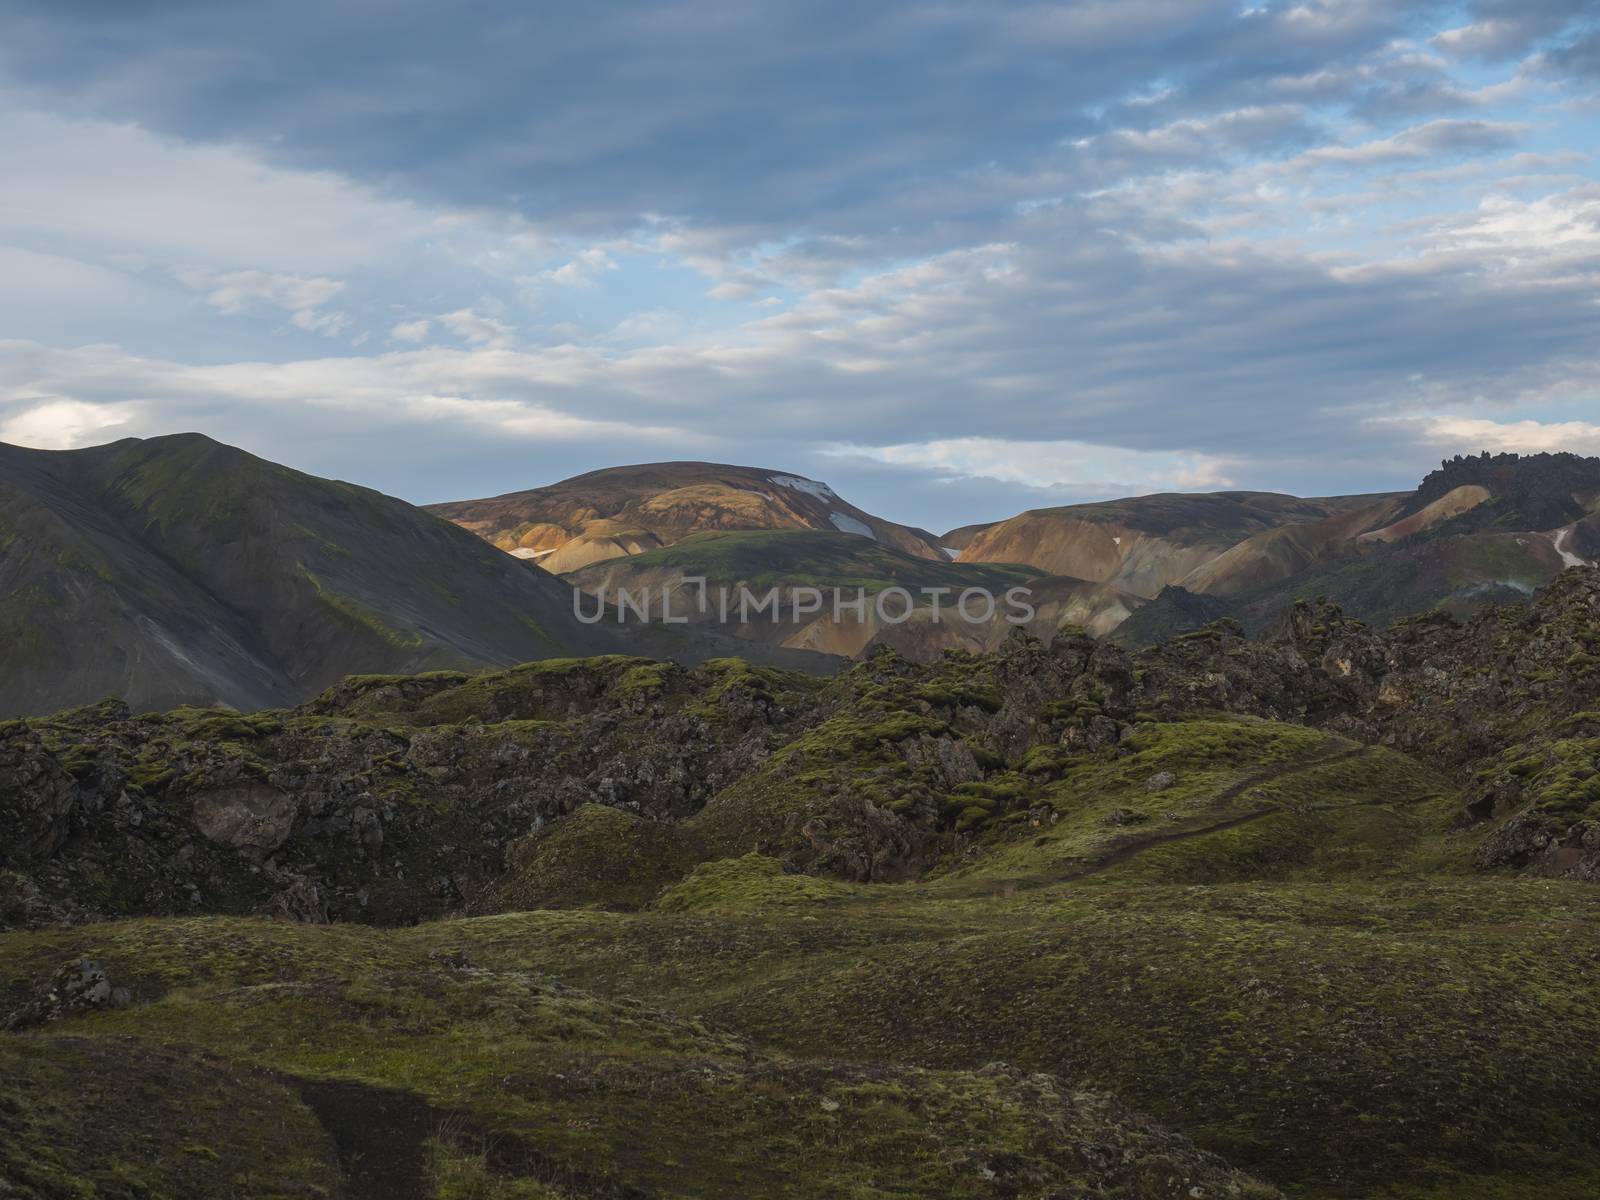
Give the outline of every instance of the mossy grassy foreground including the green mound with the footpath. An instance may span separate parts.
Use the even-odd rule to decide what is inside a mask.
[[[856,755],[893,803],[885,747],[926,731],[853,712],[859,746],[818,726],[774,786]],[[1290,1195],[1600,1192],[1600,891],[1472,875],[1434,773],[1298,726],[1141,725],[1016,774],[1026,803],[920,882],[646,845],[638,912],[5,934],[0,1011],[77,957],[136,1003],[0,1035],[24,1147],[0,1179],[318,1195],[342,1171],[378,1194],[352,1162],[392,1133],[414,1149],[394,1195],[1269,1194],[1109,1093]],[[728,800],[688,829],[736,842]],[[592,858],[629,821],[590,813],[550,845]],[[102,1077],[131,1098],[106,1128],[78,1083]]]

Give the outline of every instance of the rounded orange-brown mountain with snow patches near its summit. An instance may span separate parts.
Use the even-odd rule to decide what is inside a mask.
[[[931,533],[862,512],[826,483],[717,462],[608,467],[429,510],[557,574],[730,530],[856,533],[922,558],[949,558]]]

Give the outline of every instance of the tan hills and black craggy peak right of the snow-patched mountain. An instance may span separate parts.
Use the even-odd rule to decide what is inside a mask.
[[[962,563],[1005,557],[1146,600],[1179,587],[1141,610],[1128,643],[1224,613],[1269,629],[1299,597],[1387,624],[1512,603],[1600,560],[1600,459],[1478,454],[1440,464],[1410,493],[1138,496],[952,533],[966,539]]]

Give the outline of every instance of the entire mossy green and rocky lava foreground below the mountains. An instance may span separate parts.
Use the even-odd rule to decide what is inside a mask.
[[[1584,1200],[1597,621],[0,723],[0,1186]]]

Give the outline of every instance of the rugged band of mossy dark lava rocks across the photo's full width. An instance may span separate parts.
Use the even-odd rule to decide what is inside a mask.
[[[254,715],[96,706],[0,725],[0,922],[414,922],[586,805],[694,822],[707,853],[904,878],[1029,808],[1026,765],[1048,776],[1141,722],[1218,710],[1459,771],[1477,779],[1461,826],[1510,822],[1482,867],[1590,877],[1597,650],[1600,570],[1574,568],[1530,605],[1384,632],[1304,602],[1266,638],[1221,621],[1133,653],[1018,634],[926,664],[883,650],[832,682],[602,658],[352,678]],[[1573,758],[1586,738],[1595,754]]]

